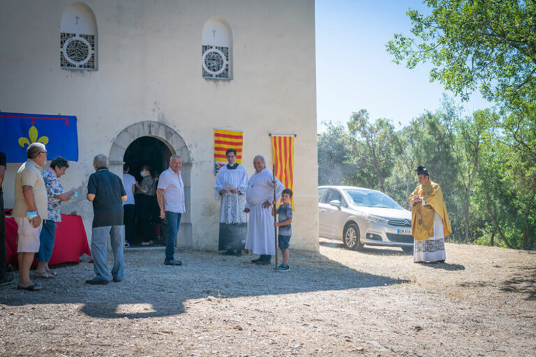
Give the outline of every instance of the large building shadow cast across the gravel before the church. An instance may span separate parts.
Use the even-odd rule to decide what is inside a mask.
[[[216,252],[184,251],[183,266],[163,265],[163,252],[125,252],[122,282],[92,286],[93,265],[57,269],[59,276],[40,280],[43,291],[19,291],[16,285],[0,289],[6,305],[81,304],[80,311],[96,318],[142,319],[184,312],[184,301],[299,294],[315,291],[386,287],[407,283],[380,275],[362,273],[318,253],[292,256],[291,270],[274,271],[271,266],[251,264],[253,255],[225,257]],[[110,257],[108,266],[112,266]]]

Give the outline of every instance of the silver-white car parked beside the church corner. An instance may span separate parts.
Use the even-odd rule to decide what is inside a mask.
[[[320,236],[343,240],[351,250],[389,245],[413,251],[411,212],[380,191],[351,186],[318,188]]]

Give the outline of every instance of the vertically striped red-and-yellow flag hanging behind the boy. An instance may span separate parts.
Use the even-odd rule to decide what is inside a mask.
[[[294,190],[294,137],[295,135],[271,135],[271,153],[276,165],[276,177],[290,190]],[[290,204],[294,210],[294,198],[290,200]]]

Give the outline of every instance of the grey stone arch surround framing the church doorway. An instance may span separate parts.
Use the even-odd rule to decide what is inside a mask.
[[[178,247],[192,247],[192,220],[191,220],[191,155],[186,142],[179,132],[167,124],[158,121],[140,121],[121,130],[112,142],[110,155],[110,171],[118,176],[123,174],[123,158],[125,151],[135,139],[140,137],[154,137],[168,146],[172,155],[179,155],[182,159],[181,176],[184,181],[184,196],[186,213],[181,217],[181,225],[177,236]]]

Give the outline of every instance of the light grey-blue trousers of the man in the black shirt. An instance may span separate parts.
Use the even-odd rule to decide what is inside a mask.
[[[116,281],[123,280],[123,226],[93,227],[91,231],[91,255],[96,278],[110,281],[110,273],[106,266],[107,241],[110,235],[110,245],[114,252],[112,277]]]

